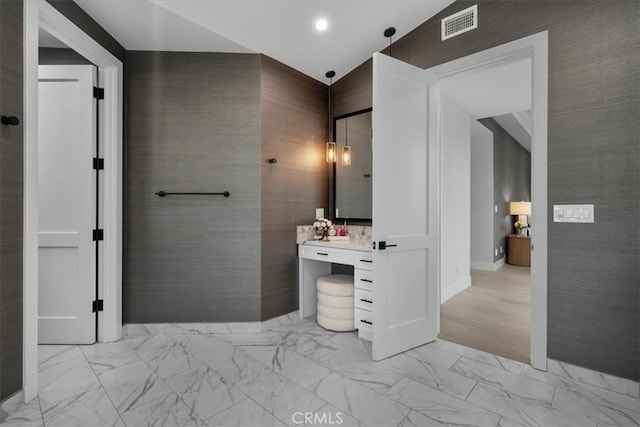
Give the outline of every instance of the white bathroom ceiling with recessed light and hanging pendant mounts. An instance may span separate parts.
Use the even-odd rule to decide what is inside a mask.
[[[263,53],[327,83],[453,0],[76,0],[127,50]],[[315,29],[325,18],[329,28]]]

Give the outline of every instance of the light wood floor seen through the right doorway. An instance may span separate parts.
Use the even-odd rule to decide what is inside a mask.
[[[471,286],[441,306],[439,337],[530,363],[531,269],[471,270]]]

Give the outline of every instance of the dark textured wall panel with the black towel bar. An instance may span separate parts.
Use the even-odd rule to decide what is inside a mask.
[[[260,320],[260,56],[126,62],[126,321]]]

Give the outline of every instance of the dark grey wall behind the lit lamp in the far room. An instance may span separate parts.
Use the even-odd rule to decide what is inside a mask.
[[[493,132],[493,200],[498,213],[493,216],[493,247],[502,247],[503,253],[493,261],[506,256],[507,236],[514,233],[517,217],[509,215],[509,202],[531,201],[531,153],[518,143],[495,120],[478,120]],[[529,218],[533,230],[534,220]]]

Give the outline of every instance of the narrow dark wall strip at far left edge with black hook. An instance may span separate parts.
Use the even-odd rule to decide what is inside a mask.
[[[22,0],[0,1],[0,400],[22,388]],[[1,412],[1,411],[0,411]]]

